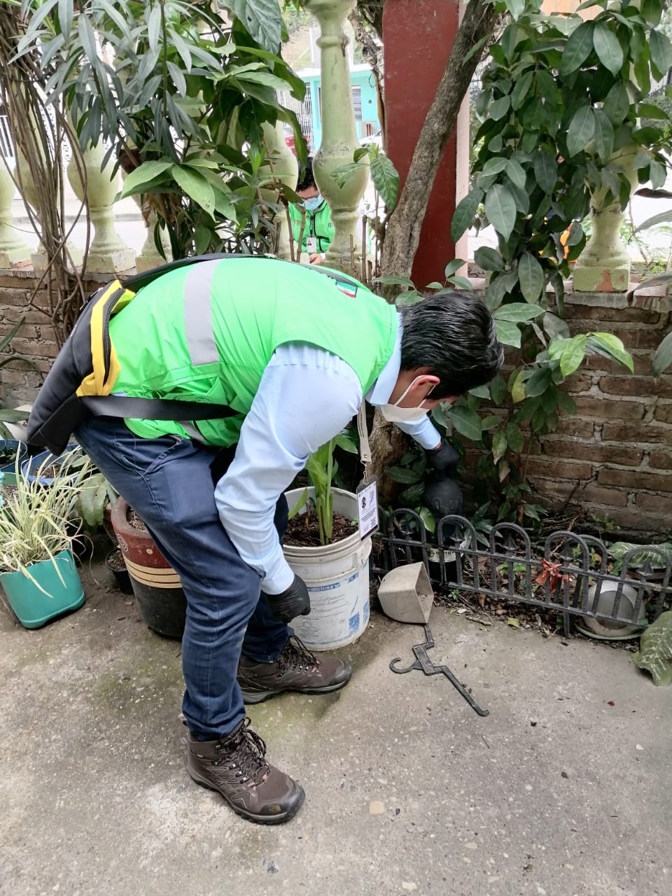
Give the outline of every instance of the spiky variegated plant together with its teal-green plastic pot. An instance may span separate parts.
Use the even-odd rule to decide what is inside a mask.
[[[65,459],[51,488],[41,487],[39,478],[19,476],[11,489],[3,489],[0,584],[25,628],[39,628],[84,602],[70,528],[79,487],[90,471],[79,463],[81,456]]]

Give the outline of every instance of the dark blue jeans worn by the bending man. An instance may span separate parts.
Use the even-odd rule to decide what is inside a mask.
[[[221,525],[210,471],[216,449],[178,436],[143,439],[110,418],[90,418],[75,435],[179,573],[187,603],[182,708],[189,730],[200,740],[229,734],[245,717],[236,681],[241,652],[277,659],[292,630],[272,616],[258,573]],[[284,495],[275,526],[281,538]]]

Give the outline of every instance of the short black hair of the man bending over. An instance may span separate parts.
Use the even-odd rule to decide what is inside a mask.
[[[495,321],[477,296],[444,289],[400,310],[401,369],[438,376],[432,399],[489,383],[502,366]]]

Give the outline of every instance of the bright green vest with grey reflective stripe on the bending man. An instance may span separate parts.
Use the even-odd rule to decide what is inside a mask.
[[[366,392],[392,356],[396,309],[323,271],[250,257],[164,274],[110,321],[121,366],[113,393],[228,404],[241,416],[202,420],[197,428],[205,442],[230,445],[237,443],[266,365],[284,343],[332,352],[353,368]],[[126,422],[145,438],[190,435],[177,421]]]

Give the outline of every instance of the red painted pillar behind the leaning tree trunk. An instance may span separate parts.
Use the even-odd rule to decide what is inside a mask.
[[[387,0],[384,5],[386,149],[401,185],[459,25],[459,0]],[[452,134],[436,174],[413,264],[418,289],[444,280],[444,267],[455,257],[450,229],[460,179],[457,159],[457,140]],[[463,177],[467,174],[463,172]]]

